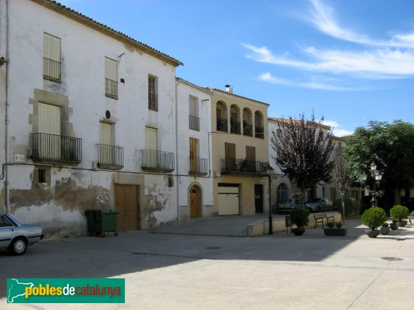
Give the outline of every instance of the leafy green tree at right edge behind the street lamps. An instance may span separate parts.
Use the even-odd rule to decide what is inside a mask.
[[[365,172],[367,184],[373,183],[368,166],[375,161],[383,172],[380,189],[386,192],[386,207],[400,204],[401,189],[408,192],[414,186],[413,145],[412,123],[371,121],[368,127],[358,127],[346,139],[345,156],[351,178],[358,180]]]

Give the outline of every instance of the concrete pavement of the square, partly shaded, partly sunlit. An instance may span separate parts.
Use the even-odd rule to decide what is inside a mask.
[[[219,220],[177,223],[186,234],[161,231],[173,229],[166,225],[117,237],[42,240],[21,257],[2,252],[0,307],[413,309],[414,225],[376,239],[364,235],[359,220],[347,221],[345,237],[324,236],[321,228],[300,237],[195,234],[197,227],[217,233]],[[86,277],[125,278],[126,304],[6,304],[6,278]]]

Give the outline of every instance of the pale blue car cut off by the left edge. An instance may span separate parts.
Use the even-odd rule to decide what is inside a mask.
[[[0,214],[0,249],[8,249],[14,255],[22,255],[28,245],[43,239],[39,225],[22,225],[10,214]]]

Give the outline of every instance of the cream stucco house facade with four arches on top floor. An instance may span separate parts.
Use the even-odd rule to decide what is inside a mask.
[[[230,89],[210,91],[215,213],[264,213],[268,210],[268,104]]]

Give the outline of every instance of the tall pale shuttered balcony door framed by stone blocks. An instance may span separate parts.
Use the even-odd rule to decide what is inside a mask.
[[[56,105],[39,103],[39,133],[42,135],[37,145],[41,158],[61,158],[61,109]]]

